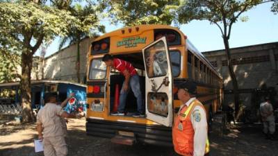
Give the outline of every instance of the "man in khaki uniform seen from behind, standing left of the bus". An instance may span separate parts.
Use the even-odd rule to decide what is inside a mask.
[[[44,107],[37,115],[38,139],[43,141],[44,156],[67,155],[67,144],[60,117],[77,118],[80,114],[68,114],[60,105],[56,105],[56,95],[47,93],[44,96]]]

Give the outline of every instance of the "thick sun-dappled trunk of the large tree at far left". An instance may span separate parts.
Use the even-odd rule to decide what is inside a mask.
[[[31,107],[31,70],[33,54],[29,51],[22,53],[22,78],[20,90],[22,94],[22,121],[28,123],[34,120]]]

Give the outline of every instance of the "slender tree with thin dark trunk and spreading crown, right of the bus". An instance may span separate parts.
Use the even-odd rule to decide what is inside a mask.
[[[180,24],[186,24],[193,19],[208,20],[211,24],[215,24],[222,34],[225,51],[227,54],[227,62],[229,67],[229,75],[234,87],[234,103],[236,114],[239,110],[239,93],[238,81],[234,73],[233,64],[231,62],[231,51],[229,48],[229,39],[231,36],[232,26],[240,19],[247,21],[247,17],[240,15],[247,10],[254,8],[261,3],[270,1],[265,0],[187,0],[182,1],[177,9],[177,17]]]

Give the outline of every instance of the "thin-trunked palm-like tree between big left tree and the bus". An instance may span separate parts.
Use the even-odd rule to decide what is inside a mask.
[[[95,3],[94,3],[95,4]],[[65,37],[61,38],[59,50],[67,43],[76,43],[76,76],[78,83],[81,82],[80,78],[80,42],[86,36],[95,35],[98,31],[104,33],[104,26],[99,24],[99,17],[101,15],[101,7],[88,3],[86,6],[76,4],[74,7],[67,8],[76,17],[78,25],[70,26],[69,31]],[[93,6],[94,5],[94,6]]]

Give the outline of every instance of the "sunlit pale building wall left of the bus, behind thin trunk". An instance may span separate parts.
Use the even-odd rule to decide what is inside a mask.
[[[92,39],[85,38],[80,44],[80,78],[81,83],[87,72],[88,49]],[[44,79],[48,80],[68,80],[77,82],[76,76],[76,56],[77,45],[72,44],[65,49],[54,53],[44,59],[43,72]]]

